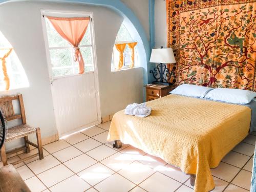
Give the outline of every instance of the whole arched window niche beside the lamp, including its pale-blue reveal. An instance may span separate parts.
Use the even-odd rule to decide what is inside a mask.
[[[131,65],[132,48],[128,46],[128,44],[131,43],[137,43],[137,45],[134,47],[133,66]],[[120,50],[117,50],[116,44],[126,44],[123,51],[123,66],[121,68],[119,68]],[[146,55],[140,35],[135,27],[131,24],[131,22],[129,22],[127,19],[124,19],[117,33],[115,45],[113,46],[111,71],[145,67],[143,64],[146,65]]]

